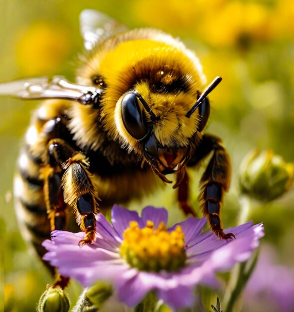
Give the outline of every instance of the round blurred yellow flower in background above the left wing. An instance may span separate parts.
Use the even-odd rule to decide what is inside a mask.
[[[29,25],[21,33],[15,48],[22,75],[44,75],[56,71],[72,46],[63,26],[45,21]]]

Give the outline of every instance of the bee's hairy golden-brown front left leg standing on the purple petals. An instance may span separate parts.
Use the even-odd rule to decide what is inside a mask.
[[[80,243],[91,244],[95,238],[99,198],[86,156],[65,141],[52,139],[48,144],[48,157],[49,163],[55,161],[64,171],[61,180],[64,202],[73,208],[76,222],[86,234]]]

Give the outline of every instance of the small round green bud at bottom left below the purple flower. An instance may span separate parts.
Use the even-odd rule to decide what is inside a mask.
[[[40,297],[37,312],[68,312],[69,297],[59,286],[48,287]]]

